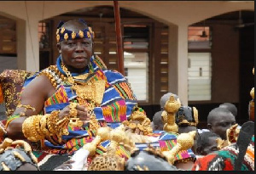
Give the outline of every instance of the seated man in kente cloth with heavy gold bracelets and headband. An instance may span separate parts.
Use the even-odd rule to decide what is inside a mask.
[[[119,126],[137,104],[130,84],[93,54],[94,32],[83,20],[61,22],[60,56],[24,83],[7,136],[29,140],[52,154],[73,154],[96,127]]]

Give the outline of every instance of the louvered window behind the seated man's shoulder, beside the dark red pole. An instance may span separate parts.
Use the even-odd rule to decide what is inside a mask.
[[[139,101],[148,102],[147,25],[124,25],[125,77]]]

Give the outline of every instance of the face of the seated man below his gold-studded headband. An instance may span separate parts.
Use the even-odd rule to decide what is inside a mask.
[[[62,41],[58,48],[61,50],[64,65],[74,69],[84,69],[92,55],[92,40],[90,38],[79,38]]]

